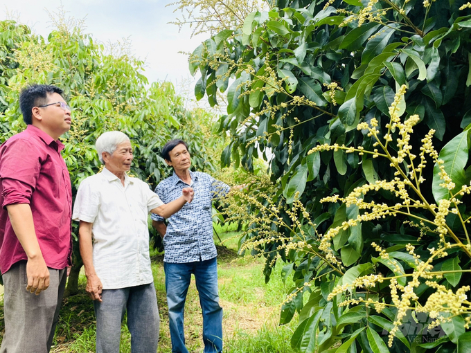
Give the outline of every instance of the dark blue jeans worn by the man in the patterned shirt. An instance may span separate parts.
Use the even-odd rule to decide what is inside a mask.
[[[188,353],[185,347],[184,307],[191,274],[195,275],[203,311],[204,353],[222,352],[222,307],[217,294],[217,260],[172,264],[163,262],[167,289],[172,353]]]

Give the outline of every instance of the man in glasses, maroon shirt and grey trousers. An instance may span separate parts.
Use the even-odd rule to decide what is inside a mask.
[[[19,105],[26,130],[0,146],[0,353],[47,353],[71,255],[71,182],[58,140],[71,109],[61,89],[44,84],[24,89]]]

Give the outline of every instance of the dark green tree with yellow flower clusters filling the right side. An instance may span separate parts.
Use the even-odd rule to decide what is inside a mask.
[[[299,312],[293,347],[461,350],[470,3],[274,6],[207,39],[190,72],[201,74],[197,98],[215,105],[226,92],[223,165],[251,170],[259,154],[269,163],[269,177],[230,212],[245,215],[242,250],[267,258],[267,280],[278,259],[287,263],[294,286],[281,323]]]

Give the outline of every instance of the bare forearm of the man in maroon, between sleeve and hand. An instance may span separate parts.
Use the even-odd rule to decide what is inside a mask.
[[[41,248],[39,248],[39,242],[37,242],[33,213],[29,204],[8,205],[6,209],[15,235],[17,235],[28,259],[42,257]]]

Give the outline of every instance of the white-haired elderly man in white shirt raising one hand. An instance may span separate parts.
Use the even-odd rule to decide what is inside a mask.
[[[132,146],[122,132],[102,134],[96,150],[105,168],[80,183],[72,215],[80,221],[86,290],[94,300],[96,352],[119,352],[126,311],[132,353],[157,352],[159,309],[150,268],[148,213],[170,217],[193,199],[193,188],[165,204],[147,183],[128,177]]]

